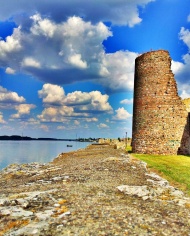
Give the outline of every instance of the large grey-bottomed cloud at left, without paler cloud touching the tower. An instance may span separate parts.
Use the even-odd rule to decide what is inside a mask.
[[[28,24],[27,29],[21,25],[7,41],[0,40],[0,66],[54,84],[100,77],[102,42],[112,35],[106,25],[76,16],[60,23],[39,14],[30,20],[32,25]]]

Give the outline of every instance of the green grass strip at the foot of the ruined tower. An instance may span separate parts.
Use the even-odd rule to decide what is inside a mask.
[[[130,152],[130,147],[127,147]],[[171,184],[187,192],[190,196],[190,156],[182,155],[148,155],[135,154],[132,156],[148,164]]]

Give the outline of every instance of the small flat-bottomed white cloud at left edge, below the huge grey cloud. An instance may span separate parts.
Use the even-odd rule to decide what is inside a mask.
[[[19,96],[16,92],[8,91],[0,86],[0,103],[21,103],[25,102],[24,97]]]

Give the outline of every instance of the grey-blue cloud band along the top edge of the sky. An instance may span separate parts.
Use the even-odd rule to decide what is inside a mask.
[[[56,22],[65,21],[72,15],[79,15],[84,17],[85,20],[92,22],[106,21],[116,25],[129,25],[132,27],[142,21],[139,17],[138,7],[144,7],[146,4],[153,1],[154,0],[102,0],[91,1],[89,4],[88,0],[46,0],[44,4],[43,1],[39,0],[30,2],[25,0],[19,0],[18,2],[9,0],[4,2],[0,8],[0,19],[9,19],[13,16],[21,15],[23,12],[28,15],[39,12],[42,15],[48,14]],[[22,20],[21,17],[17,17],[16,19],[18,22]],[[51,24],[47,27],[48,23],[46,23],[46,27],[44,26],[45,32],[47,32],[47,28],[52,28]]]

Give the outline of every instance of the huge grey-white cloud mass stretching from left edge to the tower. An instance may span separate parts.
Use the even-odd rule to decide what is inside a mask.
[[[102,43],[112,32],[104,23],[93,24],[77,16],[55,22],[40,14],[30,20],[27,30],[21,22],[11,36],[0,40],[0,66],[32,74],[45,83],[64,85],[93,80],[107,92],[133,89],[138,54],[106,54]]]

